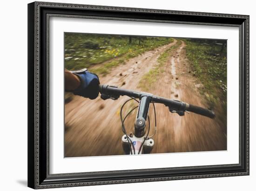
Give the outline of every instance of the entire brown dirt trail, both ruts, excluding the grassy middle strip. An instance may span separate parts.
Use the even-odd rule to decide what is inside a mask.
[[[130,59],[125,65],[111,70],[106,77],[100,77],[101,84],[139,90],[137,86],[141,77],[156,66],[161,53],[176,42],[177,40]],[[164,72],[149,92],[207,107],[197,89],[202,85],[189,73],[184,47],[185,43],[182,41],[175,54],[170,54]],[[78,157],[123,154],[120,106],[125,100],[127,97],[115,101],[103,101],[100,98],[92,101],[74,96],[65,105],[65,155]],[[153,116],[152,108],[149,113]],[[225,127],[218,120],[193,113],[180,117],[160,104],[156,105],[156,113],[157,133],[152,153],[226,149]],[[151,120],[153,124],[153,117]],[[128,132],[132,131],[134,119],[130,117],[126,124],[130,125]]]

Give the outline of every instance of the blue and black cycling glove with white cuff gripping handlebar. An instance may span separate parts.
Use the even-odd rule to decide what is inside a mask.
[[[87,69],[74,71],[72,73],[77,75],[81,81],[80,86],[73,91],[74,95],[79,95],[89,99],[96,99],[99,95],[100,84],[98,76],[87,71]]]

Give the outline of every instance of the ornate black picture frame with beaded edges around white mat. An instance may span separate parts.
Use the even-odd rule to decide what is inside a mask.
[[[239,27],[239,164],[49,174],[49,17]],[[249,16],[49,2],[28,4],[28,186],[34,189],[249,175]]]

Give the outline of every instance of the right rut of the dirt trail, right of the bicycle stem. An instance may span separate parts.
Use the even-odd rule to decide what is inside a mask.
[[[158,84],[150,93],[162,97],[181,100],[193,105],[207,108],[203,96],[197,87],[202,86],[189,72],[186,59],[185,43],[177,48],[164,66]],[[171,88],[170,88],[171,87]],[[153,116],[151,108],[150,116]],[[168,112],[168,107],[156,105],[157,133],[154,137],[155,147],[152,153],[184,152],[184,151],[217,151],[226,150],[226,126],[220,123],[218,113],[216,119],[209,119],[195,113]]]

